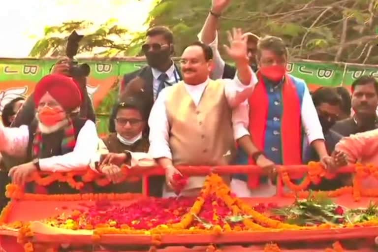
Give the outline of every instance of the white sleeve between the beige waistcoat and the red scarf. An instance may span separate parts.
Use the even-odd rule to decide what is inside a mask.
[[[239,106],[232,110],[232,127],[234,130],[235,140],[238,140],[245,135],[250,135],[248,130],[249,110],[250,106],[248,104],[248,100],[240,103]]]

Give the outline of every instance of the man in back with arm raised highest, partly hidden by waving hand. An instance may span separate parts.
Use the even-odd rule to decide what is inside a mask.
[[[231,0],[212,0],[211,10],[203,25],[201,32],[198,34],[198,39],[209,45],[213,50],[214,68],[210,77],[213,80],[217,79],[232,79],[235,76],[236,68],[224,62],[218,50],[218,32],[219,19],[222,12],[227,8]],[[244,33],[247,40],[247,54],[250,61],[250,66],[254,72],[257,72],[256,63],[256,48],[259,37],[251,32]]]

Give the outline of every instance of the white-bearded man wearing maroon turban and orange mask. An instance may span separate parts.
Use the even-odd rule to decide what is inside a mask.
[[[35,118],[31,125],[0,125],[0,151],[25,158],[9,171],[13,183],[24,185],[34,171],[65,172],[86,169],[98,145],[95,123],[71,117],[83,97],[72,78],[60,74],[43,77],[34,90]],[[28,191],[37,186],[27,185]],[[62,191],[63,190],[63,191]],[[67,193],[61,185],[43,192]],[[40,188],[38,192],[41,193]]]

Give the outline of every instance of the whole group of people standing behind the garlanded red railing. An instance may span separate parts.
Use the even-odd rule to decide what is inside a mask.
[[[172,60],[174,35],[165,27],[146,33],[148,65],[127,73],[111,111],[110,133],[100,139],[85,78],[69,76],[69,60],[56,63],[32,95],[11,101],[0,124],[1,189],[8,182],[35,193],[74,193],[56,182],[41,187],[35,171],[93,169],[112,183],[87,183],[83,191],[141,192],[142,182],[121,182],[121,167],[159,165],[165,176],[149,177],[151,196],[175,195],[179,165],[256,164],[264,176],[224,176],[238,196],[272,196],[276,165],[319,161],[330,171],[347,163],[378,162],[378,83],[356,79],[312,94],[304,80],[286,72],[288,51],[276,36],[228,32],[225,63],[218,46],[219,19],[229,0],[213,0],[198,41]],[[25,102],[25,103],[24,103]],[[300,180],[301,177],[294,179]],[[182,195],[196,195],[204,177],[190,177]],[[367,179],[366,185],[378,184]],[[350,176],[324,180],[313,189],[336,189]],[[2,193],[3,194],[3,193]],[[2,200],[4,202],[4,200]]]

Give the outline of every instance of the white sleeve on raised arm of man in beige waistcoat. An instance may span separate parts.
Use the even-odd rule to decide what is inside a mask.
[[[247,100],[252,95],[253,89],[257,84],[257,76],[252,72],[252,78],[249,85],[243,85],[238,78],[238,74],[235,74],[234,79],[224,79],[224,94],[226,95],[228,104],[231,108],[235,108],[243,101]]]

